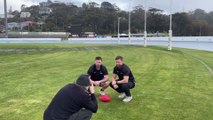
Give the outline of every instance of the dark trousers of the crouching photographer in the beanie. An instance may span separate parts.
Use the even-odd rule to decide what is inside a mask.
[[[92,117],[92,112],[87,109],[81,109],[77,113],[70,116],[68,120],[90,120]]]

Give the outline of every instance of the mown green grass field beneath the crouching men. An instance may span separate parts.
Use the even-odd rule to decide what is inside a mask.
[[[55,93],[86,73],[94,57],[102,56],[112,73],[117,55],[125,58],[136,78],[134,99],[125,104],[107,89],[112,101],[99,102],[93,120],[213,119],[213,52],[125,45],[0,44],[0,120],[42,120]]]

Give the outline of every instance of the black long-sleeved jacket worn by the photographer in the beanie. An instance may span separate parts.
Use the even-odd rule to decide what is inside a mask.
[[[55,95],[44,112],[44,120],[67,120],[82,108],[96,113],[98,104],[95,95],[79,85],[68,84]]]

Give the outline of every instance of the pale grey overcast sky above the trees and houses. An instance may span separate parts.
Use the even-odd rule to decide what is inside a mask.
[[[27,6],[38,4],[39,2],[47,0],[7,0],[8,9],[12,7],[13,10],[20,10],[20,6],[25,4]],[[52,0],[55,1],[55,0]],[[136,5],[145,5],[148,7],[155,7],[169,13],[170,10],[170,0],[58,0],[64,2],[72,2],[76,5],[81,5],[83,2],[88,3],[89,1],[95,1],[101,3],[103,1],[108,1],[112,4],[116,4],[123,10],[129,10],[130,3],[134,7]],[[130,2],[131,1],[131,2]],[[188,12],[200,8],[206,12],[213,11],[213,0],[173,0],[173,12]],[[4,13],[4,0],[0,0],[0,14]]]

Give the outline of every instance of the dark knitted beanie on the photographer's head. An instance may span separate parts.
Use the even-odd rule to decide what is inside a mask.
[[[76,80],[76,84],[80,86],[90,86],[89,75],[83,74],[79,76],[78,79]]]

